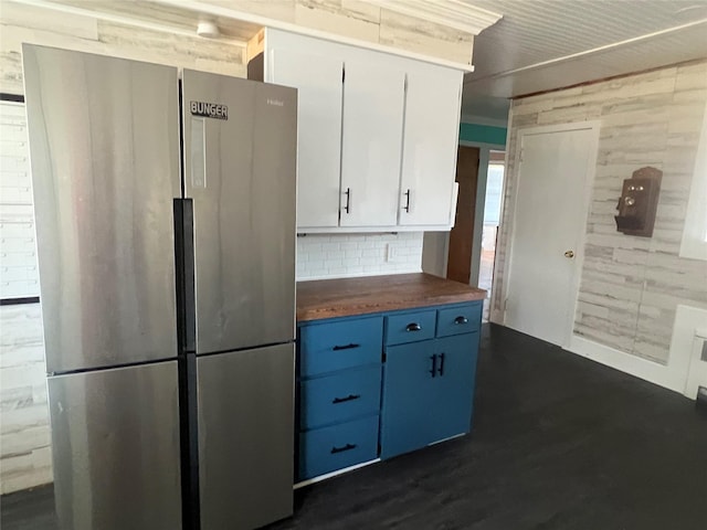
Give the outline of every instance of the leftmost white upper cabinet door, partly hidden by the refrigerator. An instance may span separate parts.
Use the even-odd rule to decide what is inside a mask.
[[[297,227],[338,226],[344,63],[275,49],[271,72],[270,81],[298,91]]]

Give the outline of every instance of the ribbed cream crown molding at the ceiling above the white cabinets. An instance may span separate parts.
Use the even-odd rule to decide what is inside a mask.
[[[503,14],[477,8],[460,0],[365,0],[401,14],[478,35],[498,22]]]

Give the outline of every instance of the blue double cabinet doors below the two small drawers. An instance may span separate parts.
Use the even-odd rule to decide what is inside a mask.
[[[381,458],[468,433],[478,333],[386,350]]]

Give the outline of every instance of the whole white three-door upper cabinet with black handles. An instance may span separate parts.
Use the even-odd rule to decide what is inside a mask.
[[[449,231],[463,72],[265,29],[249,76],[298,88],[299,233]]]

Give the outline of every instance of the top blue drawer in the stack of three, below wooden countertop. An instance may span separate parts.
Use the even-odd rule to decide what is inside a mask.
[[[299,328],[303,378],[380,363],[383,317],[357,318]]]

